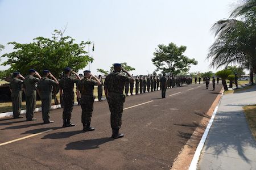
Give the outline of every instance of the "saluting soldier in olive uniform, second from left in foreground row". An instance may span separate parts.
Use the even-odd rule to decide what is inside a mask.
[[[26,118],[27,121],[33,121],[36,120],[36,118],[34,118],[34,111],[36,107],[36,83],[38,83],[42,77],[34,69],[30,69],[28,73],[29,75],[24,79],[27,110]],[[37,76],[37,78],[35,76]]]

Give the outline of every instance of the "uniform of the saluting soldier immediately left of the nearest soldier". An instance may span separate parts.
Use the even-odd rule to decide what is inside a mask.
[[[90,120],[92,119],[93,103],[95,96],[93,96],[94,86],[97,85],[96,80],[84,78],[77,84],[77,88],[81,93],[81,108],[82,108],[82,124],[90,127]]]

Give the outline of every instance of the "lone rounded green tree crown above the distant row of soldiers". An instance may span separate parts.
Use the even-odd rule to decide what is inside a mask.
[[[197,61],[183,55],[186,49],[186,46],[181,45],[179,47],[172,42],[168,46],[158,45],[154,52],[155,57],[152,58],[156,71],[163,70],[174,76],[181,72],[187,73],[191,65],[197,65]]]

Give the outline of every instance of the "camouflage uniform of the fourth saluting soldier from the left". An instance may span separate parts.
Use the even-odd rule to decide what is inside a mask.
[[[74,105],[74,83],[78,83],[79,80],[72,79],[70,76],[64,75],[59,82],[63,95],[61,96],[61,103],[63,105],[63,120],[64,122],[70,123],[71,113]]]

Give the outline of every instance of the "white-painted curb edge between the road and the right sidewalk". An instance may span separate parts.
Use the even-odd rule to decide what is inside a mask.
[[[221,94],[221,99],[222,99],[222,96],[223,96],[223,92],[222,92],[222,94]],[[220,104],[221,99],[220,99],[220,101],[218,102],[218,105]],[[200,158],[200,155],[201,155],[201,151],[203,150],[203,147],[204,147],[205,141],[206,141],[206,139],[207,139],[207,136],[208,136],[210,127],[212,127],[213,120],[214,120],[214,118],[215,118],[215,116],[216,116],[216,113],[217,113],[217,111],[218,111],[218,105],[217,105],[217,107],[214,109],[214,112],[213,112],[213,114],[212,114],[212,117],[210,118],[209,124],[207,125],[207,128],[206,128],[205,131],[204,131],[203,137],[201,138],[201,140],[200,140],[200,142],[199,142],[199,145],[198,145],[197,148],[196,148],[195,155],[193,156],[192,162],[191,162],[191,164],[189,165],[189,170],[196,170],[196,169],[197,169],[197,163],[199,162],[199,158]]]

